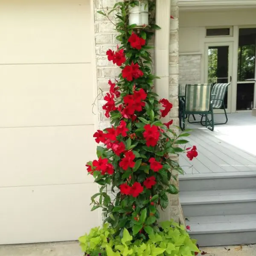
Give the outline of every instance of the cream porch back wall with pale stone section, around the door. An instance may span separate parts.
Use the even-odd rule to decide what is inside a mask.
[[[204,44],[223,42],[223,39],[218,37],[206,38],[206,28],[223,26],[256,27],[255,15],[256,9],[180,12],[180,83],[207,82],[204,77]],[[233,31],[233,36],[226,37],[224,40],[226,42],[233,42],[234,47],[236,47],[238,38],[235,37],[234,33]],[[236,58],[235,54],[233,54],[233,58]],[[235,74],[233,73],[233,78],[234,76]],[[233,83],[235,84],[234,80]]]

